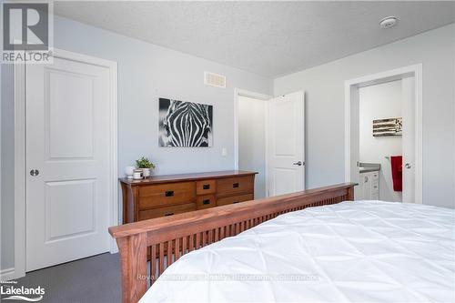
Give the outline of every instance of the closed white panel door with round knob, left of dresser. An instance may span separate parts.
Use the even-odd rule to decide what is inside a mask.
[[[109,250],[109,69],[27,65],[26,270]]]

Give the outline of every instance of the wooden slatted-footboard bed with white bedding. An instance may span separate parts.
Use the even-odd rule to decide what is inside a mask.
[[[352,186],[113,227],[124,302],[453,301],[454,211],[348,202]]]

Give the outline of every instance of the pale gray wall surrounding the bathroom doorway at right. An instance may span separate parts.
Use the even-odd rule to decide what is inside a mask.
[[[307,188],[344,181],[344,82],[423,65],[423,202],[454,207],[455,25],[274,81],[276,96],[306,92]]]

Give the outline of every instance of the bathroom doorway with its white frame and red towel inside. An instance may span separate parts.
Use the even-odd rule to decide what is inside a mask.
[[[421,167],[421,65],[347,81],[345,180],[359,183],[355,199],[422,203]]]

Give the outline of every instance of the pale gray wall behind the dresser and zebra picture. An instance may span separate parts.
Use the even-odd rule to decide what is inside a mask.
[[[271,95],[272,80],[233,67],[55,18],[55,46],[118,62],[118,173],[142,155],[156,174],[234,168],[234,87]],[[1,268],[14,266],[13,69],[2,68],[2,242]],[[204,86],[203,72],[227,76],[227,88]],[[159,148],[157,99],[160,96],[214,105],[214,145]],[[222,157],[222,147],[227,157]]]

